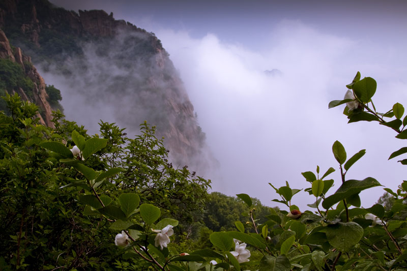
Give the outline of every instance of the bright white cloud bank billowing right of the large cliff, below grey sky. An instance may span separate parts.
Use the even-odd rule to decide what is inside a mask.
[[[364,40],[320,33],[299,21],[282,21],[272,29],[266,39],[269,49],[263,52],[222,42],[213,34],[200,39],[168,29],[156,34],[180,70],[200,126],[221,164],[220,176],[214,172],[205,176],[213,179],[215,191],[247,193],[276,205],[270,200],[277,195],[267,183],[279,187],[288,180],[290,186],[304,188],[301,172],[315,172],[316,165],[322,174],[331,166],[338,169],[331,151],[335,140],[343,143],[348,158],[367,149],[348,178],[372,176],[392,189],[402,182],[402,166],[387,161],[402,146],[392,131],[377,123],[348,125],[342,106],[328,109],[330,100],[343,98],[345,84],[358,69],[362,76],[384,73],[376,78],[377,107],[390,109],[388,100],[405,98],[406,84],[397,80],[405,69],[386,44],[370,46]],[[272,69],[282,75],[264,74]],[[392,90],[386,93],[387,88]],[[332,177],[334,192],[340,186],[338,170]],[[383,192],[381,188],[363,192],[362,204],[371,206]],[[313,201],[305,192],[293,200]]]

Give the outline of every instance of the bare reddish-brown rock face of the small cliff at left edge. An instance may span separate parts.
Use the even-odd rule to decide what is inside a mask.
[[[0,29],[0,58],[9,59],[12,62],[18,63],[25,75],[34,82],[33,88],[33,98],[30,99],[23,91],[21,87],[15,89],[6,89],[8,92],[16,92],[23,100],[29,101],[37,104],[43,114],[38,114],[37,117],[40,118],[40,123],[52,127],[53,123],[51,122],[52,110],[51,106],[47,101],[48,95],[45,91],[45,82],[44,79],[37,72],[37,69],[32,65],[31,58],[25,56],[20,48],[15,48],[15,53],[11,49],[9,40],[7,39],[5,33]],[[28,65],[24,65],[24,63]]]

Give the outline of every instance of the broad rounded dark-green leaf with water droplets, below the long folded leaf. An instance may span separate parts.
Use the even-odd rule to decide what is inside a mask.
[[[355,222],[338,222],[328,225],[325,233],[331,246],[346,252],[359,243],[363,236],[363,228]]]

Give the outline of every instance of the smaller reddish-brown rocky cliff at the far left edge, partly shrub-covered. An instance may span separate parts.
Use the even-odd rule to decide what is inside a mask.
[[[26,77],[25,80],[28,80],[32,85],[29,88],[23,89],[21,85],[15,83],[14,85],[6,86],[3,91],[12,94],[17,93],[23,100],[30,101],[39,106],[41,114],[38,114],[37,117],[40,118],[40,123],[47,126],[52,126],[51,122],[52,108],[48,102],[48,95],[45,91],[45,82],[44,79],[37,72],[37,69],[33,66],[31,62],[31,57],[26,56],[22,53],[21,48],[12,48],[9,40],[7,39],[5,33],[0,29],[0,58],[3,59],[2,62],[2,72],[6,73],[5,65],[7,61],[14,65],[14,68],[17,71],[21,71],[21,75]],[[4,63],[5,62],[5,63]],[[11,64],[11,65],[13,65]],[[6,80],[9,78],[5,78]],[[2,81],[6,81],[2,80]]]

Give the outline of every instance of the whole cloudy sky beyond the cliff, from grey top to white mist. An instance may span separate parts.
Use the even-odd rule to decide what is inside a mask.
[[[378,123],[347,124],[344,106],[328,109],[331,100],[343,99],[357,71],[377,81],[378,111],[396,102],[407,106],[404,1],[51,2],[113,12],[115,19],[156,34],[220,163],[219,171],[203,174],[213,191],[246,193],[284,208],[271,202],[278,195],[268,183],[309,187],[301,172],[319,165],[321,175],[336,169],[333,193],[341,183],[335,140],[348,158],[366,149],[346,179],[370,176],[383,185],[361,193],[364,207],[405,179],[405,166],[387,160],[404,146],[394,131]],[[265,73],[273,69],[279,72]],[[314,201],[301,191],[292,203],[304,210]]]

